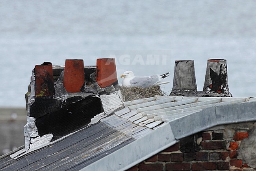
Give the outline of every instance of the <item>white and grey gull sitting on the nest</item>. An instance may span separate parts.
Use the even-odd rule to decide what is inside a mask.
[[[121,77],[123,87],[141,87],[147,88],[152,86],[159,86],[161,84],[167,84],[169,82],[162,82],[163,78],[169,76],[169,72],[162,75],[151,76],[135,76],[132,71],[125,71]]]

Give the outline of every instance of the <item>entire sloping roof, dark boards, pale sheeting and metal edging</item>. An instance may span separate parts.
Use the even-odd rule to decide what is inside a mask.
[[[0,169],[125,170],[183,137],[217,125],[256,120],[256,98],[121,99],[120,93],[100,95],[104,113],[89,126],[17,160],[6,155],[0,158]]]

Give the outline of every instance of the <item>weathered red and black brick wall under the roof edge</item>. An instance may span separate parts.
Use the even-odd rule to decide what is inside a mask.
[[[238,156],[240,144],[245,138],[249,138],[250,131],[254,127],[253,123],[232,124],[202,131],[183,138],[179,143],[128,170],[254,171]],[[254,137],[254,141],[255,139]],[[255,155],[256,149],[252,147],[252,151]]]

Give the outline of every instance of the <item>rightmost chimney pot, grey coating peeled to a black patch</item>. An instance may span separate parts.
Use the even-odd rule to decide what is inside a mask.
[[[208,59],[203,93],[211,96],[232,97],[228,89],[228,69],[225,59]]]

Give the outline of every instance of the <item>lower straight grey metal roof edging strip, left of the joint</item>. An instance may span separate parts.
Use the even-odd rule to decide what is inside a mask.
[[[84,167],[81,171],[129,169],[135,164],[142,162],[177,142],[171,126],[166,124],[89,166]],[[137,153],[138,151],[140,153]]]

